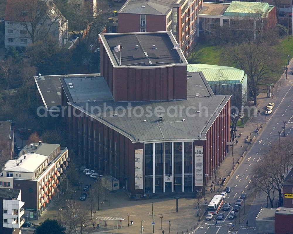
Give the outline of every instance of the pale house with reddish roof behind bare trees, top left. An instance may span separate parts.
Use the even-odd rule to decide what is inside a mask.
[[[4,44],[26,47],[52,37],[60,47],[67,43],[67,20],[53,1],[7,0]]]

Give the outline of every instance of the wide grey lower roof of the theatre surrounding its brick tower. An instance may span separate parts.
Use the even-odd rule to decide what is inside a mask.
[[[103,77],[97,78],[103,79]],[[93,86],[97,83],[96,80],[82,80],[80,78],[72,79],[75,87],[84,86],[85,82],[88,86]],[[100,100],[100,94],[96,92],[97,97],[85,101],[76,101],[79,97],[79,92],[74,92],[68,88],[68,79],[61,79],[69,104],[87,113],[103,124],[115,129],[122,135],[128,137],[132,142],[147,142],[147,141],[166,141],[166,140],[195,140],[206,139],[205,134],[214,120],[217,118],[220,110],[228,102],[230,95],[214,96],[207,81],[201,72],[190,72],[187,77],[187,100],[174,101],[149,101],[149,102],[114,102],[113,99]],[[103,84],[99,81],[99,84]],[[108,86],[104,82],[104,87],[100,89],[108,90]],[[80,89],[84,93],[80,94],[85,97],[87,90]],[[110,91],[108,91],[110,95]],[[88,93],[93,95],[93,93]],[[77,97],[76,97],[77,96]],[[84,98],[83,98],[84,99]],[[109,108],[104,108],[104,105]],[[127,109],[131,105],[132,109]],[[163,108],[165,113],[162,121],[159,121],[159,115],[155,115],[155,108]],[[180,107],[183,108],[180,115]],[[195,107],[186,112],[187,107]],[[126,110],[124,114],[122,108]],[[144,113],[141,116],[134,116],[133,110],[139,108]],[[111,111],[113,109],[113,111]],[[115,111],[116,109],[116,111]],[[141,112],[137,110],[139,115]],[[149,115],[147,110],[152,110],[152,115]],[[175,110],[178,110],[177,116]],[[128,112],[130,110],[130,112]],[[167,115],[167,110],[170,115]],[[200,110],[200,112],[195,112]],[[129,114],[130,113],[130,114]],[[184,119],[184,120],[183,120]],[[146,120],[146,121],[144,121]]]

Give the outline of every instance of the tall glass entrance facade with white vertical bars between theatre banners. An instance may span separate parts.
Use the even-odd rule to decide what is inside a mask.
[[[193,142],[145,144],[145,192],[193,190]]]

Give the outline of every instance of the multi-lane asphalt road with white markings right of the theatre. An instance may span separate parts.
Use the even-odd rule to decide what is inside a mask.
[[[290,77],[293,78],[292,76]],[[226,186],[231,187],[232,191],[228,194],[224,200],[226,203],[231,203],[231,209],[237,198],[242,193],[248,193],[247,187],[251,182],[251,171],[254,165],[259,161],[263,160],[263,156],[271,144],[278,143],[279,133],[284,127],[283,121],[286,121],[285,134],[286,136],[292,136],[293,128],[293,81],[287,80],[285,86],[282,85],[277,90],[273,90],[274,100],[269,100],[265,102],[267,105],[269,102],[275,103],[272,115],[266,116],[266,124],[262,131],[258,135],[256,141],[252,144],[251,148],[248,150],[246,156],[243,158],[242,162],[235,170],[233,176],[229,180]],[[255,121],[265,122],[265,106],[260,107],[260,115],[253,117]],[[263,108],[263,109],[262,109]],[[259,126],[258,126],[259,127]],[[255,126],[256,128],[256,126]],[[280,140],[284,137],[283,131],[280,136]],[[244,148],[244,147],[243,147]],[[249,194],[249,193],[248,193]],[[276,194],[276,199],[278,195]],[[237,234],[249,234],[255,233],[255,218],[258,215],[261,207],[266,207],[266,195],[257,196],[253,205],[250,206],[249,210],[245,212],[245,218],[243,223],[240,225]],[[270,204],[269,206],[270,207]],[[222,221],[218,221],[215,225],[215,220],[217,216],[214,216],[212,221],[202,221],[201,225],[195,231],[196,234],[226,234],[228,233],[231,225],[239,222],[239,217],[236,220],[229,220],[228,215],[231,211],[225,211],[225,218]],[[241,206],[243,208],[243,205]],[[246,208],[247,209],[247,208]],[[237,215],[239,212],[236,212]],[[248,221],[248,226],[246,226],[246,221]],[[231,231],[231,233],[234,233]]]

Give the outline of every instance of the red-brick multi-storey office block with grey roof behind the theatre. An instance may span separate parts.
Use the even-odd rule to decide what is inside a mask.
[[[201,0],[128,0],[118,11],[118,32],[172,31],[185,56],[197,39]]]

